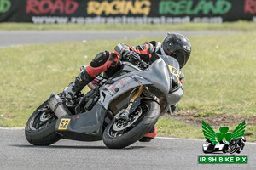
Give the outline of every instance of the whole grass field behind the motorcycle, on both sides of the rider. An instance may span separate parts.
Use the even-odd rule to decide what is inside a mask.
[[[179,111],[201,111],[199,117],[255,116],[255,37],[255,32],[189,37],[192,54],[183,68],[184,94]],[[162,37],[154,39],[161,41]],[[137,45],[150,40],[122,42]],[[103,50],[113,51],[117,43],[62,42],[0,48],[0,126],[24,127],[32,111],[52,92],[61,92],[73,81],[81,65],[88,65]],[[159,135],[203,138],[201,125],[194,127],[172,119],[158,123]],[[248,141],[256,141],[255,130],[255,126],[247,127]]]

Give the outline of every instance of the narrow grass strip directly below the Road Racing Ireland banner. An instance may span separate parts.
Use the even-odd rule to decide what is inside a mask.
[[[183,24],[172,24],[172,25],[100,25],[100,24],[73,24],[73,25],[57,25],[57,24],[32,24],[32,23],[1,23],[0,30],[5,31],[20,31],[20,30],[37,30],[37,31],[46,31],[46,30],[64,30],[64,31],[101,31],[101,30],[119,30],[119,31],[256,31],[256,24],[249,21],[237,21],[237,22],[224,22],[223,24],[216,23],[183,23]]]

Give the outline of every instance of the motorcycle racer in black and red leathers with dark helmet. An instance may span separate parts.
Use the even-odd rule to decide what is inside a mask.
[[[125,43],[119,43],[114,48],[114,53],[104,51],[96,54],[90,65],[83,69],[79,76],[64,89],[63,94],[67,100],[72,100],[76,94],[96,76],[104,71],[107,77],[113,76],[121,68],[121,61],[129,61],[137,65],[141,60],[151,65],[160,55],[168,55],[177,59],[180,69],[186,65],[191,54],[191,43],[187,37],[178,33],[167,33],[163,42],[145,42],[138,46],[129,46]],[[180,74],[180,82],[183,82],[183,73]],[[176,111],[177,105],[172,105],[172,110]],[[156,135],[156,127],[146,134],[145,140],[153,139]],[[143,141],[143,140],[142,140]]]

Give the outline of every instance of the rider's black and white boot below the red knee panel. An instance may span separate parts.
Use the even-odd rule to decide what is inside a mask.
[[[87,73],[86,69],[82,69],[79,73],[79,76],[76,77],[73,82],[71,82],[63,91],[63,94],[67,100],[72,100],[76,94],[86,86],[89,82],[91,82],[94,77],[90,77]]]

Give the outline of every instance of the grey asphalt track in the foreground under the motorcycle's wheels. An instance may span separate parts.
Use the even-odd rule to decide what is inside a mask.
[[[247,164],[198,164],[204,140],[156,138],[122,150],[110,150],[102,141],[61,139],[51,146],[33,146],[24,130],[0,129],[0,169],[256,169],[256,144],[246,143],[241,155]]]

